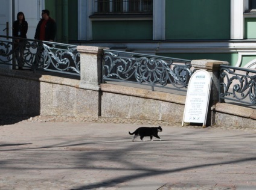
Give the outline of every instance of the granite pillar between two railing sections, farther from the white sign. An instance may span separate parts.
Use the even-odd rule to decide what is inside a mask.
[[[80,88],[100,91],[103,49],[95,46],[77,46],[80,52]]]

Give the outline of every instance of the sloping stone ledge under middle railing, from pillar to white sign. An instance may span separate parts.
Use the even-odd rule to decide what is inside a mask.
[[[162,100],[165,102],[173,102],[181,105],[185,105],[186,101],[186,96],[178,94],[170,94],[114,84],[101,84],[101,91],[115,94],[124,94],[127,96],[142,97],[147,99]]]

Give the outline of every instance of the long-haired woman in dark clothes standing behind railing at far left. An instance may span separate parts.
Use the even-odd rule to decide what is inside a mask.
[[[25,50],[25,40],[20,38],[27,38],[28,22],[25,20],[25,15],[22,12],[17,14],[17,20],[13,22],[13,36],[19,37],[14,39],[14,51],[19,69],[22,69],[24,64],[23,55]],[[15,67],[13,68],[15,69]]]

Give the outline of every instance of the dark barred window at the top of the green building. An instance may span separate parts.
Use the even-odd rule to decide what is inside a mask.
[[[95,0],[95,14],[141,14],[153,11],[153,0]]]

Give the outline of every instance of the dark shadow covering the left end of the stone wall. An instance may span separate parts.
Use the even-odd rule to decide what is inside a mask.
[[[11,80],[10,75],[14,76]],[[27,80],[24,75],[35,80]],[[26,70],[0,70],[0,125],[40,115],[39,78]]]

